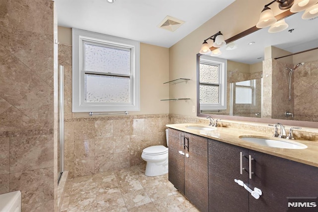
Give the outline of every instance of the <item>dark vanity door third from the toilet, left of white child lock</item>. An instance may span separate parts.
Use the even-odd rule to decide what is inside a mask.
[[[248,150],[236,145],[209,139],[209,211],[248,212],[248,192],[234,179],[248,183]]]

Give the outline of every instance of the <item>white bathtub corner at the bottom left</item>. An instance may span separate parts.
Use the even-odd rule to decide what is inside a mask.
[[[1,194],[0,212],[21,212],[21,191]]]

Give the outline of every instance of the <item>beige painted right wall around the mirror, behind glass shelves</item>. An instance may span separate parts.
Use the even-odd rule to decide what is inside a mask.
[[[170,102],[169,114],[196,116],[192,106],[196,105],[196,54],[204,39],[221,31],[225,39],[256,25],[259,14],[268,0],[236,0],[195,31],[187,35],[169,49],[169,77],[189,77],[191,80],[181,86],[170,87],[169,95],[187,96],[187,102]],[[271,6],[274,14],[282,12],[276,3]],[[211,8],[213,9],[213,8]],[[205,12],[209,12],[205,10]]]

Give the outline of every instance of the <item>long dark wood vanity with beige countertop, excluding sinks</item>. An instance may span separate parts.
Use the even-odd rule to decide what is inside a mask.
[[[298,140],[308,146],[304,149],[275,148],[239,139],[269,137],[258,132],[189,126],[167,125],[169,181],[200,211],[286,211],[288,202],[299,201],[293,198],[317,203],[317,142]],[[260,189],[259,198],[235,179]]]

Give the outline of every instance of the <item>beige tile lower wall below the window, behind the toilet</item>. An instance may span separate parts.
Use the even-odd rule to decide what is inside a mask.
[[[69,178],[144,163],[144,148],[166,145],[166,124],[167,114],[66,120],[65,170]]]

